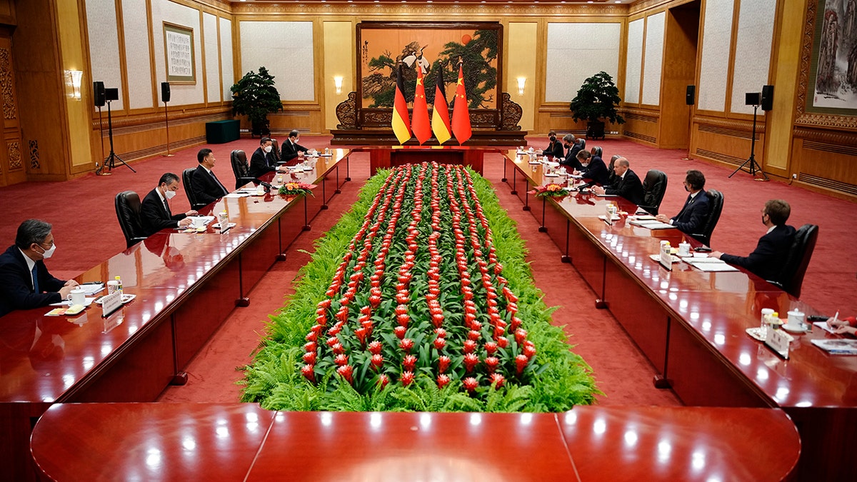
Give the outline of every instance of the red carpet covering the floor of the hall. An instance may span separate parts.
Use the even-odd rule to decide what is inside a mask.
[[[327,136],[302,137],[303,145],[314,148],[324,148],[328,140]],[[547,142],[533,139],[531,143],[542,147]],[[632,169],[641,176],[650,168],[667,172],[669,188],[662,204],[662,212],[666,214],[676,213],[684,202],[686,194],[680,182],[684,172],[691,168],[704,172],[708,179],[706,187],[722,190],[725,196],[722,218],[712,237],[716,250],[746,255],[764,232],[759,220],[759,209],[764,202],[772,198],[787,200],[793,208],[789,224],[800,226],[812,222],[820,226],[802,298],[824,312],[857,313],[857,300],[842,297],[842,293],[857,292],[854,277],[857,261],[842,256],[848,252],[848,240],[854,238],[855,231],[838,226],[838,220],[852,212],[854,203],[777,182],[757,183],[743,172],[728,178],[730,169],[681,160],[684,151],[663,151],[626,141],[590,142],[590,147],[596,144],[604,148],[608,159],[612,154],[625,155]],[[207,147],[213,148],[219,159],[215,172],[222,179],[231,179],[231,150],[241,148],[249,154],[257,146],[258,140],[242,139]],[[0,239],[12,244],[21,220],[30,217],[48,220],[54,224],[59,245],[57,254],[48,262],[52,273],[60,277],[79,274],[124,249],[124,238],[113,210],[116,193],[129,189],[145,195],[163,172],[180,174],[184,168],[195,166],[195,154],[202,147],[183,150],[172,158],[135,162],[132,166],[138,171],[136,174],[125,166],[118,166],[111,176],[90,174],[65,183],[27,183],[0,188],[0,202],[6,213],[6,222],[0,226]],[[351,206],[363,179],[369,176],[367,154],[354,154],[351,159],[354,182],[345,184],[342,195],[334,197],[331,208],[315,219],[313,230],[297,239],[289,250],[289,259],[274,265],[255,287],[250,294],[253,301],[249,308],[233,310],[229,320],[188,367],[188,385],[167,389],[162,401],[237,400],[240,387],[234,383],[241,379],[241,373],[236,367],[249,363],[249,353],[258,345],[267,315],[282,306],[282,297],[291,291],[291,280],[298,268],[309,260],[309,256],[298,250],[312,250],[313,240],[333,226],[339,214]],[[509,194],[509,188],[500,184],[500,156],[487,156],[485,166],[485,175],[497,186],[500,202],[518,221],[521,236],[527,240],[536,286],[545,292],[548,305],[562,306],[555,312],[554,321],[566,325],[575,352],[592,366],[599,388],[606,394],[599,397],[598,402],[605,405],[678,404],[671,392],[652,388],[654,372],[612,316],[590,308],[590,303],[578,303],[578,298],[590,298],[589,287],[572,268],[557,266],[559,250],[547,235],[536,231],[536,221],[520,209],[520,202]],[[37,192],[42,196],[35,196]],[[57,202],[68,199],[85,201]],[[177,196],[173,206],[174,212],[188,209],[187,197]]]

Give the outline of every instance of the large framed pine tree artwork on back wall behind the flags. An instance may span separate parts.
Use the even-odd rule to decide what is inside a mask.
[[[502,45],[498,22],[358,23],[357,105],[363,110],[388,111],[393,106],[399,63],[409,103],[414,99],[417,69],[423,70],[429,105],[434,104],[434,85],[440,72],[447,101],[452,101],[460,59],[470,111],[499,109]]]

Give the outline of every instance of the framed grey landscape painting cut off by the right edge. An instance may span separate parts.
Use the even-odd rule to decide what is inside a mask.
[[[857,115],[857,0],[816,5],[806,111]]]

